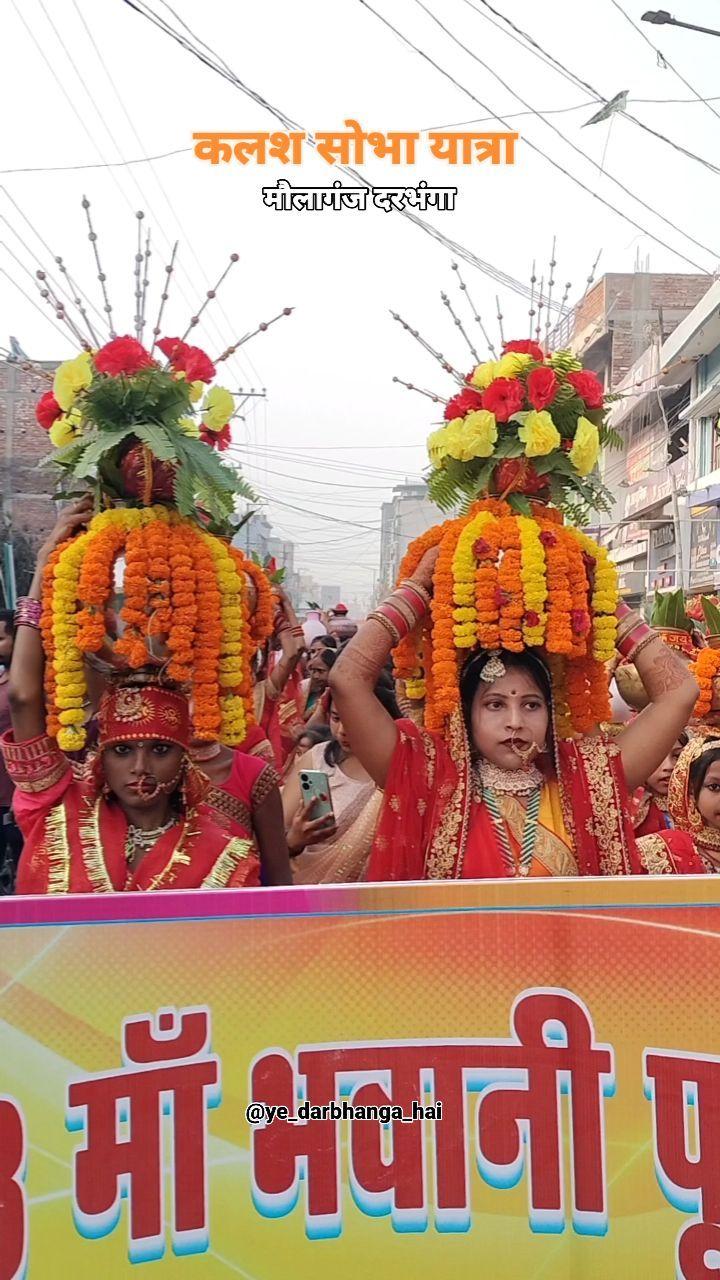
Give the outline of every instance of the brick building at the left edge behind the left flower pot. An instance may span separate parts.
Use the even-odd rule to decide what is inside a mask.
[[[55,522],[53,492],[55,480],[49,468],[38,468],[40,460],[50,452],[47,435],[37,425],[35,407],[53,387],[58,361],[40,361],[40,371],[23,370],[13,360],[0,361],[0,448],[1,448],[1,522],[3,581],[12,594],[10,559],[15,566],[18,586],[27,590],[27,571],[40,543]]]

